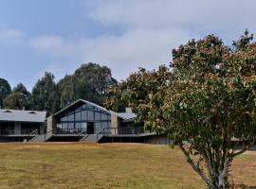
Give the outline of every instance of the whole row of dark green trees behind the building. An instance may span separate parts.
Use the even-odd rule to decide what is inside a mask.
[[[38,79],[31,93],[19,83],[12,90],[9,82],[0,78],[0,106],[12,110],[58,112],[73,101],[83,98],[103,105],[106,89],[117,84],[111,70],[97,63],[82,64],[74,74],[55,82],[53,74],[46,72]]]

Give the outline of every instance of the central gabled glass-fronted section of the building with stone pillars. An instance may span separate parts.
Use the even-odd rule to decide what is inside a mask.
[[[84,130],[87,134],[97,134],[102,129],[120,129],[124,127],[124,120],[135,118],[135,116],[132,112],[111,112],[97,104],[79,99],[49,117],[47,131],[53,129],[56,133],[75,134]]]

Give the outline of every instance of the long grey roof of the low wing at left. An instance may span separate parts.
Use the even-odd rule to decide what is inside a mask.
[[[46,112],[0,109],[0,121],[44,123]]]

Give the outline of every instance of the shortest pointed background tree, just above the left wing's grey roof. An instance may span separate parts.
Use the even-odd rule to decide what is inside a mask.
[[[22,110],[30,108],[30,96],[26,87],[20,83],[13,88],[12,92],[4,99],[6,109]]]

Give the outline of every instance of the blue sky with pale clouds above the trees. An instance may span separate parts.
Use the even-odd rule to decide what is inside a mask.
[[[256,32],[255,0],[0,0],[0,77],[31,90],[85,62],[123,79],[172,60],[172,49],[216,34],[227,44]]]

